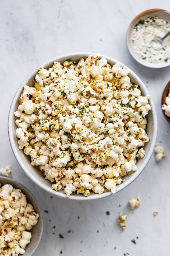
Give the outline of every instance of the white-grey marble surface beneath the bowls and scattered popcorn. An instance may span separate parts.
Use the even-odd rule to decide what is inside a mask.
[[[142,67],[131,58],[125,42],[128,24],[134,16],[157,7],[170,9],[170,2],[0,1],[0,166],[10,163],[12,178],[26,185],[41,206],[44,232],[35,256],[57,256],[61,250],[64,256],[169,255],[170,125],[161,112],[161,94],[170,80],[170,68],[155,70]],[[159,163],[153,154],[145,170],[128,188],[114,196],[91,202],[51,198],[50,194],[37,187],[16,162],[7,132],[10,103],[25,76],[48,59],[75,51],[108,55],[141,77],[156,106],[157,142],[161,142],[167,152]],[[129,198],[138,195],[142,204],[132,211],[127,205]],[[48,214],[44,210],[48,210]],[[157,216],[153,215],[155,210],[159,211]],[[109,216],[106,211],[110,211]],[[128,215],[125,231],[117,224],[121,211]],[[74,233],[68,233],[68,230]],[[60,239],[58,234],[64,238]],[[131,242],[132,239],[136,244]]]

